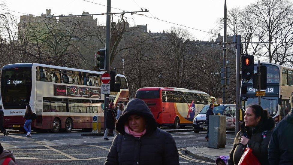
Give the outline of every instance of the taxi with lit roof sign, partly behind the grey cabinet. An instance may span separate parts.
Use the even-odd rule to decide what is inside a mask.
[[[195,133],[207,130],[206,113],[209,105],[205,105],[199,114],[193,119],[193,129]],[[235,104],[214,104],[214,114],[226,115],[226,130],[235,128],[236,123],[236,105]]]

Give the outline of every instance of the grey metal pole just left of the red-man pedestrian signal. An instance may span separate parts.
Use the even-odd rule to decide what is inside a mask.
[[[240,51],[241,51],[241,35],[237,35],[236,41],[236,124],[235,136],[239,132],[239,110],[240,110]]]

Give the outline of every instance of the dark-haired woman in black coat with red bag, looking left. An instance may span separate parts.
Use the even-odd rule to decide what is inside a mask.
[[[238,164],[245,148],[252,149],[252,154],[261,164],[268,164],[267,147],[275,121],[268,116],[266,110],[259,105],[250,105],[246,108],[244,123],[237,133],[233,148],[230,151],[228,165]]]

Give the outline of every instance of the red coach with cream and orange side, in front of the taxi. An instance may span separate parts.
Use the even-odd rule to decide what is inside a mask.
[[[193,118],[204,105],[212,103],[207,93],[184,88],[140,88],[135,98],[146,102],[159,126],[176,129],[192,126]]]

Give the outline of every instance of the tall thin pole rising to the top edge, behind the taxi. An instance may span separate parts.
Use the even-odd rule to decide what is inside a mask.
[[[226,73],[227,73],[227,5],[226,5],[226,0],[225,0],[225,5],[224,5],[224,36],[223,36],[223,99],[222,103],[226,104]]]

